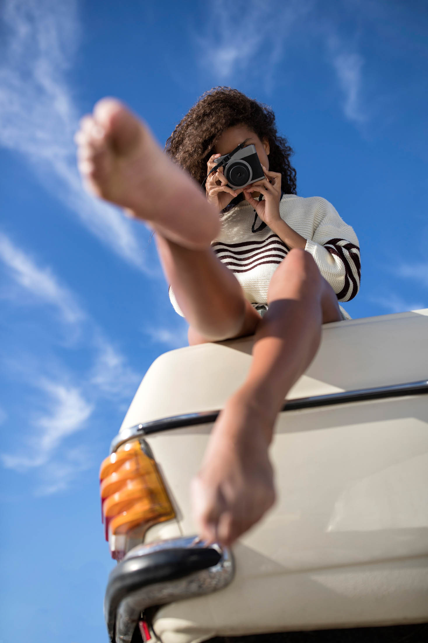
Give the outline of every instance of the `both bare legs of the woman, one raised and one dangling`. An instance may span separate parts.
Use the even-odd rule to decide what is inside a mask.
[[[273,424],[290,386],[311,362],[321,322],[340,319],[336,296],[309,253],[292,250],[270,284],[260,320],[234,275],[210,250],[218,213],[198,186],[160,151],[150,132],[112,100],[101,101],[76,135],[89,188],[148,221],[193,340],[257,329],[246,383],[225,406],[193,484],[200,534],[231,543],[274,501],[268,458]]]

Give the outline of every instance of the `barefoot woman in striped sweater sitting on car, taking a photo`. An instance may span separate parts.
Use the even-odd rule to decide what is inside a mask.
[[[296,197],[273,112],[235,89],[212,89],[177,125],[166,146],[175,163],[112,99],[83,118],[76,142],[90,190],[155,231],[189,343],[255,335],[248,377],[219,415],[192,487],[201,538],[230,545],[275,500],[273,425],[321,324],[343,319],[338,298],[357,293],[357,238],[325,199]],[[240,143],[255,145],[264,179],[232,190],[219,168],[203,195],[198,184]]]

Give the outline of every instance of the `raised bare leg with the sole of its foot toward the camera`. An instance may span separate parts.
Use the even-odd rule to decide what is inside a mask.
[[[98,196],[149,222],[180,308],[194,336],[223,340],[255,331],[259,316],[233,273],[210,248],[219,215],[150,131],[116,100],[101,100],[76,134],[79,168]]]

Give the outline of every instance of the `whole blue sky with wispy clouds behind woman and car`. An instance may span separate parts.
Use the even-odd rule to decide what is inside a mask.
[[[272,105],[298,194],[329,199],[359,237],[347,311],[427,307],[428,8],[3,0],[0,12],[0,643],[101,643],[99,463],[186,325],[149,231],[83,192],[78,119],[118,96],[163,145],[212,86]]]

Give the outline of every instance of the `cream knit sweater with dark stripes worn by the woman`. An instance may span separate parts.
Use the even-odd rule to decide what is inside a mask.
[[[284,194],[279,212],[281,219],[307,240],[305,250],[311,253],[339,302],[354,298],[361,275],[359,242],[332,204],[321,197]],[[221,213],[221,231],[212,249],[232,270],[246,298],[253,305],[263,305],[273,273],[289,248],[268,226],[253,233],[254,217],[248,201]],[[171,288],[169,296],[176,312],[182,314]],[[348,318],[347,313],[343,317]]]

